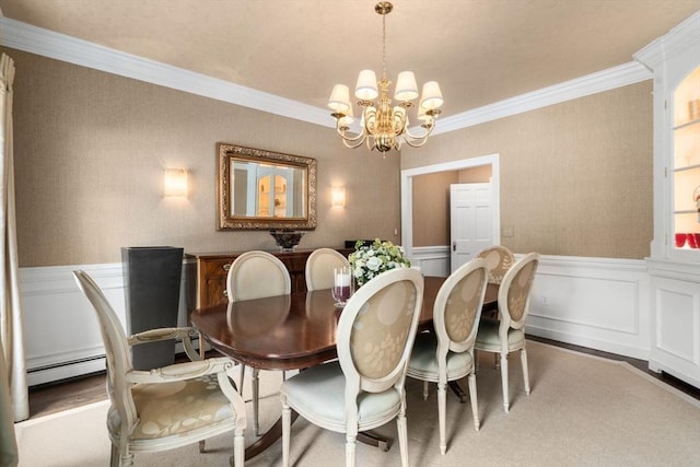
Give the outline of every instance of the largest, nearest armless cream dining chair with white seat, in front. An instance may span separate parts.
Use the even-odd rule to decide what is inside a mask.
[[[338,360],[291,376],[281,387],[282,465],[290,464],[291,412],[346,433],[346,465],[354,466],[358,433],[397,420],[401,465],[408,466],[406,363],[423,302],[415,269],[390,269],[362,285],[340,314]]]

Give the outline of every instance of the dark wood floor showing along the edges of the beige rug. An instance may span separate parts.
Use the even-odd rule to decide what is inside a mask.
[[[585,347],[572,346],[557,342],[549,339],[528,336],[529,340],[536,340],[561,348],[575,350],[582,353],[598,355],[610,360],[626,361],[632,366],[646,372],[655,378],[681,390],[682,393],[700,400],[700,388],[690,386],[665,373],[657,374],[648,370],[648,362],[644,360],[630,359],[615,353],[602,352]],[[178,357],[177,361],[182,358]],[[30,419],[47,416],[74,407],[97,402],[107,398],[105,387],[105,373],[93,373],[61,382],[48,383],[30,388]]]

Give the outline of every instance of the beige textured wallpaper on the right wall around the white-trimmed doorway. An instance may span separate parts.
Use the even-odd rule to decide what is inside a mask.
[[[644,258],[653,224],[652,125],[646,81],[439,135],[420,150],[405,149],[401,170],[499,153],[501,225],[515,233],[502,238],[505,246]]]

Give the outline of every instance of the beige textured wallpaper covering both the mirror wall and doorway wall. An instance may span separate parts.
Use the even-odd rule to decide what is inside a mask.
[[[375,236],[398,243],[400,168],[499,153],[501,224],[515,232],[504,245],[549,255],[649,255],[651,81],[438,135],[423,148],[405,148],[399,168],[396,154],[345,149],[329,128],[5,51],[16,66],[23,267],[119,261],[121,246],[273,249],[266,232],[215,230],[219,141],[318,160],[318,229],[301,247]],[[187,200],[162,197],[166,167],[188,168]],[[345,209],[330,208],[335,185],[346,186]],[[445,223],[423,223],[413,236],[443,244]]]

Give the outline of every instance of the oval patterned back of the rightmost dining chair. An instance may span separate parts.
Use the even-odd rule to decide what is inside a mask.
[[[510,327],[522,329],[529,311],[529,293],[539,265],[539,254],[530,253],[516,261],[505,273],[499,290],[501,319]]]

